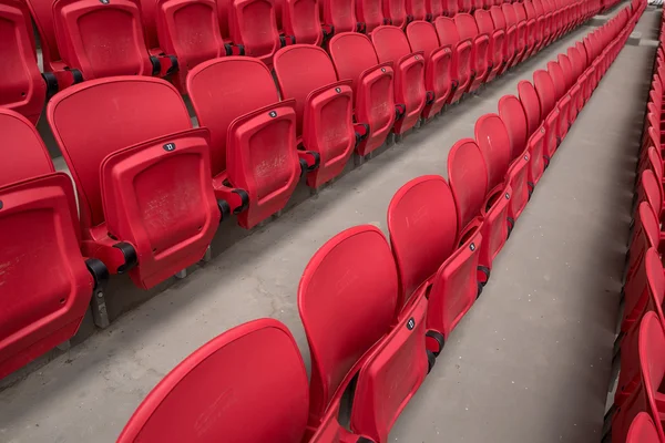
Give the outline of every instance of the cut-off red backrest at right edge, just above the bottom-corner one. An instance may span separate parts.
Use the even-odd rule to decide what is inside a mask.
[[[647,412],[652,416],[659,416],[656,405],[656,394],[665,378],[665,333],[661,319],[654,311],[644,315],[640,323],[640,367],[642,382],[647,400]],[[658,435],[663,435],[661,421],[656,423]]]

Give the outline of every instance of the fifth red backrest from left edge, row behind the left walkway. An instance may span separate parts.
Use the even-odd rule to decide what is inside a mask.
[[[337,78],[350,79],[354,92],[360,74],[379,64],[379,59],[369,37],[359,32],[336,34],[328,44],[330,59],[335,64]]]

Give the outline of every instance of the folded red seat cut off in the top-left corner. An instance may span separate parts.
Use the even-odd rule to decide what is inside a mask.
[[[37,65],[30,11],[18,0],[0,0],[0,107],[13,110],[37,124],[47,84]]]

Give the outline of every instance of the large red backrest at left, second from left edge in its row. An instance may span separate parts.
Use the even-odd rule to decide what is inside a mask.
[[[104,157],[192,127],[177,90],[145,76],[100,79],[68,87],[51,99],[47,117],[76,183],[84,227],[104,222],[100,189]]]

